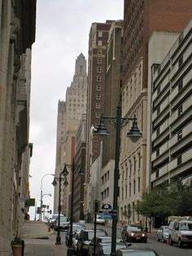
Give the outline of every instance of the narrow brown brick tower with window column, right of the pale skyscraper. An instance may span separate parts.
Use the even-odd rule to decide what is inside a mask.
[[[111,21],[93,23],[89,32],[87,124],[86,124],[86,164],[85,181],[89,183],[90,166],[98,157],[100,139],[92,138],[91,127],[98,126],[101,113],[104,112],[106,46]],[[91,151],[90,151],[91,149]]]

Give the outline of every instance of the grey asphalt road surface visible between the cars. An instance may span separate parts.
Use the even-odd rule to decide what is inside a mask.
[[[94,224],[92,223],[86,223],[85,224],[86,227],[88,228],[94,228]],[[97,225],[97,228],[103,228],[105,231],[107,231],[107,233],[109,235],[111,235],[111,227],[109,226],[99,226]],[[120,238],[120,228],[117,228],[117,237]],[[64,233],[65,232],[61,232],[61,237],[62,237],[62,242],[64,243]],[[180,249],[178,248],[177,245],[166,245],[162,242],[157,242],[156,241],[156,234],[152,233],[152,234],[148,234],[148,241],[147,243],[136,243],[133,242],[132,247],[142,247],[142,248],[151,248],[151,249],[155,249],[155,251],[160,255],[160,256],[190,256],[192,255],[192,247],[190,248],[183,248]]]

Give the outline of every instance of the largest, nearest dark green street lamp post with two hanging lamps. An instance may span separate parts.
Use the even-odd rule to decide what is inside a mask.
[[[109,135],[107,128],[104,125],[104,120],[107,120],[111,125],[116,128],[116,155],[115,155],[115,169],[114,169],[114,186],[113,186],[113,210],[112,210],[112,234],[111,234],[111,256],[116,255],[116,225],[117,225],[117,198],[118,198],[118,177],[119,177],[119,163],[120,163],[120,130],[128,124],[129,121],[133,121],[131,130],[127,133],[127,136],[136,142],[137,139],[142,137],[142,133],[137,128],[136,117],[121,117],[120,104],[116,108],[116,117],[104,117],[103,114],[100,118],[98,129],[94,131],[95,135]]]

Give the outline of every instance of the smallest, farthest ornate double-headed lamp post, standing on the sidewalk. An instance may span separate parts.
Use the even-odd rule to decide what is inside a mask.
[[[60,172],[59,178],[55,178],[52,182],[53,186],[56,186],[57,182],[56,179],[59,179],[59,204],[58,204],[58,230],[57,230],[57,236],[56,236],[56,242],[55,245],[61,245],[61,236],[60,236],[60,214],[61,214],[61,182],[62,179],[64,179],[64,186],[68,186],[68,180],[66,176],[68,175],[68,170],[63,169],[63,171]],[[63,178],[62,178],[63,176]]]

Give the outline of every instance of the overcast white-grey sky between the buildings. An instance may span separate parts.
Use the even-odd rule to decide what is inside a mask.
[[[123,0],[37,0],[36,41],[32,51],[30,109],[30,196],[40,205],[43,194],[53,195],[56,125],[59,99],[71,85],[76,57],[87,60],[89,29],[93,22],[122,20]],[[43,196],[52,209],[54,196]],[[30,209],[31,219],[35,208]],[[38,217],[38,216],[37,216]]]

